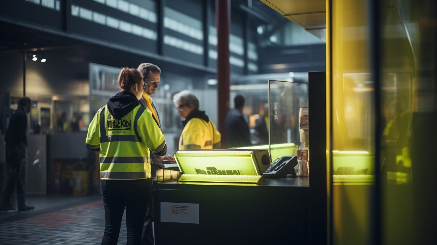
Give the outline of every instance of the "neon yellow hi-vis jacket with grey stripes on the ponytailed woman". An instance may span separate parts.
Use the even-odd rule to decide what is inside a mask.
[[[87,148],[100,149],[101,179],[151,178],[149,149],[166,151],[166,141],[152,112],[136,106],[121,120],[105,105],[88,128]]]

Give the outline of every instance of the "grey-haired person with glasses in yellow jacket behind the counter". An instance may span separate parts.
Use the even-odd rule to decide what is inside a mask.
[[[184,90],[173,97],[177,112],[185,120],[179,139],[179,150],[218,149],[222,135],[204,111],[199,110],[199,100],[193,92]]]

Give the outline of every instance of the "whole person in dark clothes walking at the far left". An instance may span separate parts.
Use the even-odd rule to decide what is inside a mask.
[[[27,116],[30,112],[31,100],[28,97],[23,97],[18,102],[18,109],[14,112],[9,121],[9,127],[6,131],[6,163],[10,165],[11,172],[7,179],[6,188],[0,204],[0,212],[12,212],[15,208],[10,205],[10,197],[17,185],[17,203],[18,212],[33,210],[34,207],[26,206],[24,198],[24,188],[21,179],[18,176],[20,173],[21,159],[24,158],[24,151],[28,146],[26,129]]]

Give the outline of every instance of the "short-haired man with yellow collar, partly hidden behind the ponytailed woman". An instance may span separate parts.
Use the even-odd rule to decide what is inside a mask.
[[[156,91],[159,88],[159,83],[161,81],[161,69],[158,66],[151,63],[141,63],[138,66],[138,71],[142,74],[143,82],[147,84],[146,87],[143,89],[142,96],[139,102],[143,107],[149,109],[149,111],[152,112],[153,119],[155,119],[155,122],[158,125],[158,127],[161,128],[160,116],[151,98],[151,96],[155,95]],[[176,162],[172,155],[166,154],[165,156],[157,156],[153,152],[150,152],[150,159],[159,161],[161,163]],[[152,173],[152,177],[154,177],[153,174],[154,173]],[[152,181],[152,179],[150,180]],[[152,182],[150,183],[150,187],[151,186],[152,186]],[[153,236],[154,221],[155,221],[155,203],[154,203],[153,196],[150,196],[146,221],[144,221],[144,228],[143,228],[142,241],[141,241],[142,245],[154,244],[155,241]]]

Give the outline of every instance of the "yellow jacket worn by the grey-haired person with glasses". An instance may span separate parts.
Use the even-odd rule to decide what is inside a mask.
[[[219,149],[222,135],[211,120],[207,123],[200,118],[192,118],[182,130],[179,150],[184,149]]]

